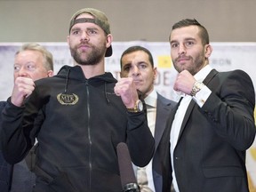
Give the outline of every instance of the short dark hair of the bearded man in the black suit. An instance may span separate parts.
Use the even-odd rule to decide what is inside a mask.
[[[206,28],[204,28],[204,26],[202,26],[195,19],[193,19],[193,20],[192,19],[180,20],[179,22],[175,23],[172,26],[172,30],[174,30],[176,28],[183,28],[183,27],[188,27],[188,26],[197,26],[198,28],[200,28],[199,36],[201,37],[203,45],[210,43],[208,31],[206,30]],[[171,36],[169,36],[169,39],[170,39],[170,37]]]

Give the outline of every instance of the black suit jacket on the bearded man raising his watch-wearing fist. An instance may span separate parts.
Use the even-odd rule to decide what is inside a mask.
[[[241,70],[218,73],[213,69],[204,84],[212,90],[204,106],[191,100],[180,119],[183,122],[173,154],[180,192],[248,192],[245,150],[256,132],[252,80]],[[170,161],[172,120],[173,116],[161,143],[166,161]]]

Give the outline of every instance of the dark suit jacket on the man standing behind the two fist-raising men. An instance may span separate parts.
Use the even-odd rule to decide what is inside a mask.
[[[176,102],[172,100],[167,100],[162,95],[157,93],[157,104],[156,104],[156,125],[155,125],[155,155],[153,157],[152,172],[153,180],[156,188],[156,192],[166,192],[163,189],[163,173],[167,170],[162,169],[161,156],[159,156],[159,143],[162,140],[164,130],[166,127],[166,121],[168,116],[174,113],[173,109],[177,105]],[[171,185],[169,186],[171,188]],[[168,190],[168,191],[171,191]]]

